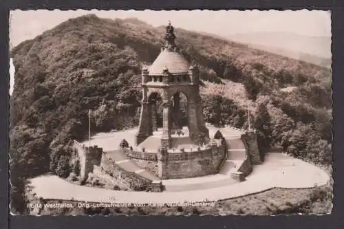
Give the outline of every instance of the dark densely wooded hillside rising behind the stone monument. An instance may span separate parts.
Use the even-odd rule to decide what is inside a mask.
[[[87,15],[14,47],[12,195],[21,195],[27,177],[72,171],[69,144],[85,138],[88,109],[94,132],[138,124],[140,69],[158,56],[163,34],[136,19]],[[278,143],[297,157],[331,163],[329,69],[178,28],[175,34],[184,56],[200,66],[207,122],[246,128],[249,102],[262,151]]]

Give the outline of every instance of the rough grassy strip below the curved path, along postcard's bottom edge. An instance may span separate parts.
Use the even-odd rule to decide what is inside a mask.
[[[45,203],[73,201],[45,200]],[[74,203],[75,204],[75,203]],[[44,208],[41,215],[279,215],[328,214],[332,209],[332,188],[322,186],[307,189],[274,188],[263,193],[217,201],[208,207],[121,207],[121,208]]]

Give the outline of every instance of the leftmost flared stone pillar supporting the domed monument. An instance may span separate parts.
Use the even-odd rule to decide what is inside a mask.
[[[140,123],[138,124],[138,133],[136,133],[135,144],[138,145],[153,134],[151,128],[151,105],[149,102],[141,102]]]

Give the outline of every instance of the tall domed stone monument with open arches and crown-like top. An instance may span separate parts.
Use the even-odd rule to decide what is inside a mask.
[[[160,145],[171,148],[173,127],[182,128],[180,94],[187,98],[189,137],[195,144],[209,138],[204,124],[200,98],[200,77],[197,65],[190,65],[175,45],[174,28],[169,23],[164,35],[165,44],[151,67],[142,69],[142,107],[136,145],[157,130],[156,96],[162,98],[162,135]]]

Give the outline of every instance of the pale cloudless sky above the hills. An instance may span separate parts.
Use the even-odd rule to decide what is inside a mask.
[[[176,28],[227,37],[252,32],[288,32],[307,36],[331,36],[331,14],[321,10],[12,10],[10,48],[34,39],[45,30],[74,17],[96,14],[100,18],[136,17],[158,27],[170,20]],[[14,67],[10,69],[12,91]]]

